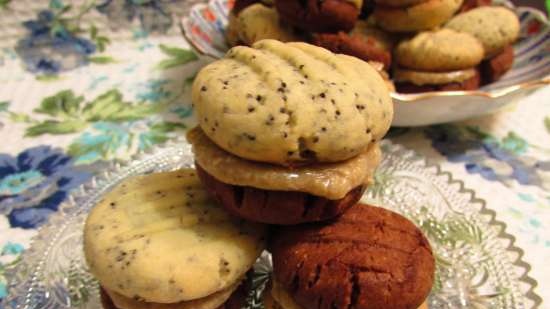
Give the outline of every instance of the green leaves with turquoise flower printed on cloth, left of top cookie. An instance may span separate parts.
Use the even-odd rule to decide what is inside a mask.
[[[72,90],[63,90],[41,101],[34,109],[36,118],[10,112],[7,102],[0,103],[0,112],[7,113],[14,122],[26,124],[26,137],[80,134],[69,144],[68,153],[78,164],[88,164],[128,159],[128,155],[166,142],[173,132],[186,129],[182,122],[161,117],[163,113],[180,120],[191,116],[184,106],[173,106],[176,100],[133,103],[117,89],[87,100]]]

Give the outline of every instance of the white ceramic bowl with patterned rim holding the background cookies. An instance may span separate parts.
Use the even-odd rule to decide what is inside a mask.
[[[550,84],[550,21],[538,10],[514,7],[507,1],[496,2],[514,10],[521,21],[512,69],[498,82],[476,91],[394,92],[393,126],[447,123],[494,113]],[[199,3],[182,19],[184,35],[199,53],[220,58],[229,49],[224,31],[233,3],[234,0]]]

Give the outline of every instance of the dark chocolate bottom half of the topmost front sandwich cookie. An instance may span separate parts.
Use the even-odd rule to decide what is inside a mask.
[[[196,169],[208,192],[228,212],[269,224],[290,225],[332,219],[357,203],[365,190],[364,186],[360,186],[342,199],[329,200],[304,192],[229,185],[212,177],[198,165]]]

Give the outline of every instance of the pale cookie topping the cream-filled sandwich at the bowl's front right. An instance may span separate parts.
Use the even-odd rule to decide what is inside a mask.
[[[451,29],[425,31],[399,43],[395,61],[402,67],[423,71],[452,71],[472,68],[483,59],[476,38]]]

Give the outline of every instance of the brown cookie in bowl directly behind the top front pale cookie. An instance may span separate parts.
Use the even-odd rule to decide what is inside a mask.
[[[351,36],[344,32],[317,33],[313,35],[313,43],[333,53],[346,54],[365,61],[380,62],[384,64],[385,69],[391,65],[391,54],[381,48],[372,38]]]

